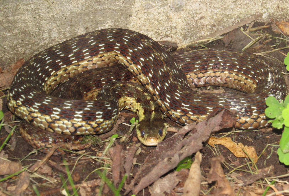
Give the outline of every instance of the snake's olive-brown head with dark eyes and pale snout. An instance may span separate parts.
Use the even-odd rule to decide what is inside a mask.
[[[140,142],[146,146],[156,146],[166,137],[168,125],[163,119],[153,122],[142,120],[136,125],[136,135]]]

